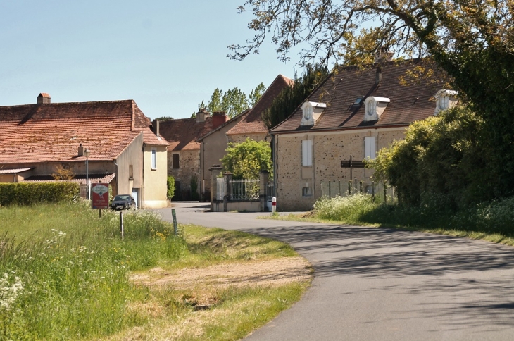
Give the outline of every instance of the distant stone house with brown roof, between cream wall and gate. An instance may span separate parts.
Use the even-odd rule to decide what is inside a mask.
[[[192,199],[191,179],[196,177],[196,193],[202,191],[201,143],[197,141],[208,132],[217,130],[227,123],[225,111],[208,113],[205,109],[196,113],[196,118],[163,120],[161,135],[169,142],[168,175],[175,178],[175,197],[178,200]],[[225,150],[225,149],[223,149]]]

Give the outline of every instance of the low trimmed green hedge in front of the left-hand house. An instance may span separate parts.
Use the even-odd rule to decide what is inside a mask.
[[[80,194],[75,182],[0,183],[0,206],[71,202]]]

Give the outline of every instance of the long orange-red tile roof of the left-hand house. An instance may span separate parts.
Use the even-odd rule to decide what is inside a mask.
[[[150,127],[131,99],[0,106],[0,163],[85,160],[79,144],[113,160],[142,132],[153,142]]]

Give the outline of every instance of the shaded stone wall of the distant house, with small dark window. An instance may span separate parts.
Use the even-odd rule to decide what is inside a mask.
[[[173,154],[179,154],[180,168],[173,168]],[[198,192],[200,193],[200,150],[168,151],[168,174],[173,175],[175,181],[180,181],[180,190],[190,190],[191,177],[198,177]]]

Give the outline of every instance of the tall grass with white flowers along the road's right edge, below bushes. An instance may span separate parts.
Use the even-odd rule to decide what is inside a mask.
[[[316,218],[349,224],[382,224],[514,237],[514,197],[458,210],[453,209],[444,197],[437,195],[425,197],[419,206],[410,206],[397,202],[373,202],[368,194],[356,194],[319,199],[314,211]],[[514,240],[503,242],[510,244]]]

